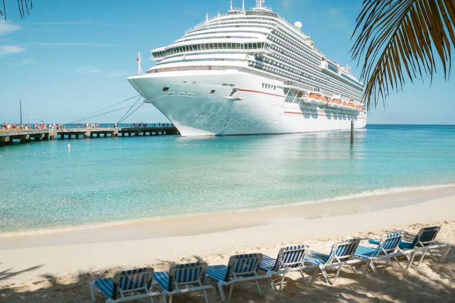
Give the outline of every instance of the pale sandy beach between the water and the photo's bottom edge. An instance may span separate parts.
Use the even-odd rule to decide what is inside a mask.
[[[159,218],[111,226],[46,233],[0,235],[0,300],[5,302],[89,302],[88,283],[117,270],[203,260],[225,264],[229,256],[305,243],[328,252],[334,241],[378,238],[390,231],[414,235],[440,225],[439,242],[455,243],[455,186],[414,189],[310,205],[232,213]],[[335,286],[318,279],[304,286],[298,276],[280,293],[260,298],[255,288],[235,288],[235,302],[445,301],[455,300],[455,250],[444,263],[430,258],[406,271],[391,263],[386,274],[356,280],[344,272]],[[210,283],[206,280],[206,283]],[[220,301],[219,296],[213,297]],[[197,302],[197,294],[177,302]],[[97,297],[102,302],[103,297]]]

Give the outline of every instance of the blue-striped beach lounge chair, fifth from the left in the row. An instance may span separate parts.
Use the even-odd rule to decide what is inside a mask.
[[[355,276],[357,276],[357,273],[355,272],[353,264],[365,262],[366,263],[365,267],[368,267],[370,263],[370,260],[368,258],[359,259],[354,257],[354,251],[359,243],[360,239],[338,241],[335,244],[333,244],[329,255],[310,250],[307,252],[303,261],[305,263],[317,265],[317,267],[319,267],[319,270],[321,270],[321,273],[323,274],[326,282],[329,283],[330,285],[333,285],[337,280],[338,275],[340,274],[341,268],[343,266],[349,266],[354,272]],[[338,268],[338,270],[335,274],[334,279],[331,280],[329,278],[327,271],[334,268]],[[318,270],[316,269],[316,272],[313,274],[313,279],[311,280],[310,285],[314,283],[317,273]]]

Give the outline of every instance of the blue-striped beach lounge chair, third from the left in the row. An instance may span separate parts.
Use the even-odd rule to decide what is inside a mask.
[[[270,279],[269,275],[258,275],[257,271],[262,261],[262,254],[245,254],[235,255],[229,258],[228,266],[214,265],[207,267],[207,276],[216,281],[218,285],[219,295],[222,301],[226,301],[223,286],[231,286],[229,289],[228,300],[231,299],[232,291],[235,283],[254,282],[259,295],[262,296],[261,288],[258,280]],[[265,288],[265,293],[268,289]]]

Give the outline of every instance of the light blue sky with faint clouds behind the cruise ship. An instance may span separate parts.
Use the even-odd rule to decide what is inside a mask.
[[[267,5],[302,31],[315,46],[341,64],[355,63],[348,54],[350,34],[360,1],[267,0]],[[241,0],[235,0],[236,7]],[[0,121],[70,122],[136,94],[126,78],[136,74],[136,52],[143,69],[154,64],[150,50],[166,45],[204,20],[206,12],[226,12],[228,0],[35,1],[21,20],[15,0],[6,0],[8,22],[0,21]],[[246,0],[246,6],[254,6]],[[406,83],[384,106],[371,111],[369,123],[455,124],[454,82],[437,74],[432,86]],[[89,122],[116,122],[123,112]],[[145,105],[125,122],[164,122]]]

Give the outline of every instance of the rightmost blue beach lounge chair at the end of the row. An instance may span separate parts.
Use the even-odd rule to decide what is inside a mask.
[[[406,256],[407,258],[407,269],[413,265],[414,258],[418,252],[421,252],[422,256],[420,257],[417,266],[420,265],[427,252],[429,252],[429,254],[434,257],[431,249],[445,248],[439,261],[443,262],[445,260],[445,257],[447,257],[451,246],[448,243],[435,242],[435,238],[440,229],[440,226],[421,228],[412,242],[401,241],[398,244],[398,249],[402,252],[402,255]],[[370,240],[370,243],[372,244],[377,244],[377,242],[377,240]]]

